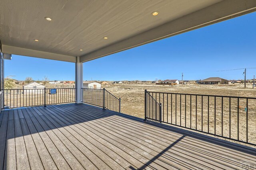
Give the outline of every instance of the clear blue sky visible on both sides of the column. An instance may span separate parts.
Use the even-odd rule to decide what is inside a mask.
[[[84,63],[84,80],[243,79],[256,66],[256,12]],[[74,80],[74,63],[13,55],[5,76]],[[26,66],[27,65],[27,66]],[[256,69],[247,69],[252,79]]]

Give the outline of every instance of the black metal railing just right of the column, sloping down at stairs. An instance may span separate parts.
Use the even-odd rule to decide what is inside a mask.
[[[82,88],[82,102],[121,112],[121,98],[117,98],[105,88]]]

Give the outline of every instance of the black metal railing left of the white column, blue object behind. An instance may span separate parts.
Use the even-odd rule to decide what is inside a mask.
[[[75,88],[4,89],[4,108],[75,102]]]

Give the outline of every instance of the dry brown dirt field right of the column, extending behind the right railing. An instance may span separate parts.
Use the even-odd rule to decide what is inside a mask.
[[[154,85],[154,84],[107,84],[104,86],[109,92],[116,97],[121,98],[121,112],[136,117],[144,118],[144,90],[150,92],[170,92],[170,93],[182,93],[182,94],[204,94],[204,95],[218,95],[218,96],[239,96],[239,97],[256,97],[256,88],[252,89],[252,84],[247,84],[244,88],[244,84],[230,84],[230,85],[198,85],[198,84],[186,84],[186,85]],[[154,94],[155,95],[155,94]],[[160,95],[160,102],[164,109],[164,121],[169,123],[185,126],[185,95],[177,95],[177,108],[175,111],[176,96],[173,95],[172,104],[170,102],[170,96],[168,96],[168,102],[166,96],[163,98]],[[190,127],[190,95],[186,96],[186,127]],[[157,99],[159,94],[157,94]],[[216,98],[216,115],[214,117],[214,97],[209,98],[209,132],[216,133],[216,135],[223,135],[229,137],[229,130],[231,131],[230,137],[237,139],[239,128],[239,139],[246,141],[246,109],[248,109],[248,142],[256,143],[256,100],[248,100],[248,108],[246,108],[246,100],[239,100],[239,109],[237,105],[237,99],[231,98],[230,107],[230,121],[229,121],[229,98],[223,98],[223,111],[222,111],[222,98]],[[159,99],[158,99],[159,101]],[[198,130],[208,131],[208,98],[203,97],[203,111],[202,111],[202,98],[197,97],[196,107],[195,96],[192,96],[191,102],[191,127]],[[167,106],[168,104],[168,106]],[[168,113],[167,113],[168,107]],[[180,111],[180,107],[182,111]],[[173,109],[172,114],[171,109]],[[196,111],[197,110],[197,111]],[[238,112],[239,110],[239,117]],[[223,112],[223,118],[222,118]],[[197,115],[196,115],[197,113]],[[203,115],[203,116],[202,116]],[[168,120],[167,120],[168,116]],[[202,123],[203,117],[203,123]],[[239,125],[238,125],[239,118]],[[214,119],[216,124],[214,125]],[[223,119],[223,125],[222,125]],[[195,123],[197,121],[197,123]],[[181,124],[180,124],[181,123]],[[203,129],[202,129],[203,126]],[[214,127],[216,130],[214,131]],[[223,127],[223,131],[221,130]],[[231,127],[231,128],[230,128]]]

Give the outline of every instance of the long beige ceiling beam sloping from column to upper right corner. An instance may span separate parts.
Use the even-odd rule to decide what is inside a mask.
[[[223,0],[138,35],[80,56],[90,61],[256,11],[256,0]]]

